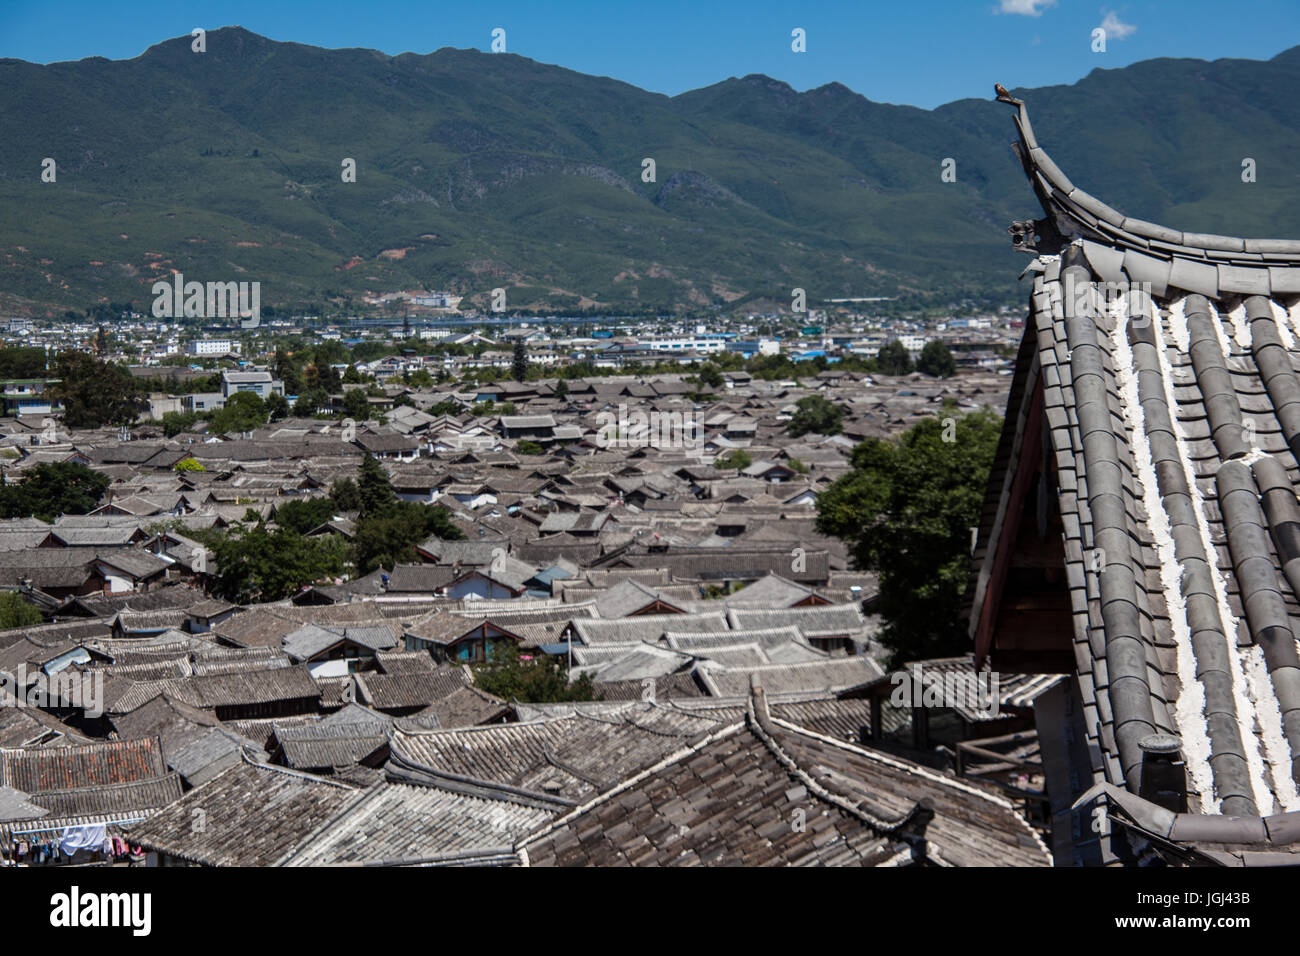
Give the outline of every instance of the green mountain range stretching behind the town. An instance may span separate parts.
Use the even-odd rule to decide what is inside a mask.
[[[486,307],[494,287],[564,310],[788,307],[794,287],[814,307],[1015,300],[1005,230],[1041,212],[992,101],[1013,74],[926,111],[763,75],[670,98],[508,53],[239,27],[203,53],[185,36],[134,60],[0,60],[0,311],[144,307],[173,271],[260,281],[264,307],[416,289]],[[1062,169],[1124,213],[1300,237],[1297,88],[1300,47],[1014,92]]]

